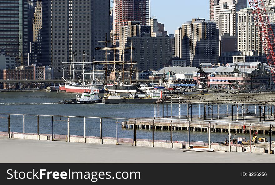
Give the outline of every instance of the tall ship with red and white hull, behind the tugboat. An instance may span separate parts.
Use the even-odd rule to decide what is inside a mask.
[[[65,90],[66,92],[69,93],[86,93],[86,92],[99,92],[102,93],[104,91],[103,89],[103,84],[98,84],[96,80],[94,80],[94,63],[93,63],[93,78],[91,79],[90,82],[85,83],[84,81],[84,76],[85,74],[85,51],[83,53],[83,63],[79,63],[79,62],[75,62],[74,61],[74,56],[76,56],[75,52],[73,53],[73,62],[72,63],[66,63],[67,65],[72,65],[73,66],[73,70],[70,70],[70,72],[72,72],[72,80],[68,81],[65,80],[63,78],[63,80],[65,80]],[[82,69],[82,81],[81,80],[75,80],[75,73],[76,72],[80,72],[80,71],[76,71],[75,70],[75,65],[83,65],[83,69]],[[89,63],[90,64],[90,63]],[[68,72],[68,71],[67,71]],[[86,71],[87,72],[87,71]],[[90,74],[90,73],[89,73]]]

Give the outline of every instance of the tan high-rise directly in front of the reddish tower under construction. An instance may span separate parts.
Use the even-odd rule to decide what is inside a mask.
[[[128,22],[128,26],[120,27],[119,31],[119,59],[123,60],[123,49],[129,37],[150,37],[150,25],[141,25],[139,22]]]

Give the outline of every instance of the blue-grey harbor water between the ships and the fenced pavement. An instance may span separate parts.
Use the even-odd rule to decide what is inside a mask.
[[[57,92],[1,92],[0,93],[0,113],[4,114],[35,114],[35,115],[60,115],[60,116],[87,116],[87,117],[106,117],[106,118],[149,118],[154,117],[154,104],[58,104],[59,100],[70,100],[75,98],[75,93],[57,93]],[[171,105],[168,105],[168,117],[171,116]],[[156,115],[166,116],[166,104],[164,111],[161,104],[156,109]],[[215,111],[215,108],[213,110]],[[181,115],[187,114],[187,107],[181,106]],[[216,108],[217,109],[217,108]],[[192,115],[199,114],[199,106],[192,107]],[[200,114],[203,114],[201,106]],[[220,114],[226,114],[226,106],[221,107]],[[208,112],[207,112],[208,113]],[[178,105],[173,105],[173,116],[178,116]],[[7,115],[2,115],[3,117]],[[37,133],[37,116],[25,115],[25,133]],[[67,134],[67,118],[54,118],[54,134]],[[61,120],[57,120],[61,119]],[[42,134],[51,134],[52,117],[39,117],[39,132]],[[133,138],[133,129],[124,129],[121,126],[125,119],[118,119],[118,137]],[[86,119],[86,135],[100,135],[100,120]],[[116,119],[102,119],[103,137],[116,137]],[[232,126],[234,129],[234,126]],[[8,119],[0,119],[0,131],[8,131]],[[22,115],[11,115],[11,132],[23,132]],[[84,135],[83,118],[70,118],[70,134]],[[245,137],[249,139],[249,134],[231,133],[231,138]],[[261,135],[258,137],[267,137]],[[228,133],[211,133],[212,142],[223,142]],[[137,129],[137,139],[152,139],[152,129]],[[155,130],[154,139],[170,140],[170,131]],[[188,131],[173,130],[174,141],[188,141]],[[190,131],[191,141],[208,140],[207,132]],[[272,140],[275,136],[272,135]]]

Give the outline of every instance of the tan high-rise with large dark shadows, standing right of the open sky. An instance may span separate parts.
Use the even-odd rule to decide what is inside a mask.
[[[212,21],[192,19],[182,25],[182,59],[191,67],[216,63],[219,53],[219,30]]]

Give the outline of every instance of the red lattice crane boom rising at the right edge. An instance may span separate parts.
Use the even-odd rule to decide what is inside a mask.
[[[275,38],[267,16],[265,0],[248,0],[248,2],[267,57],[267,63],[270,66],[273,81],[275,81]]]

